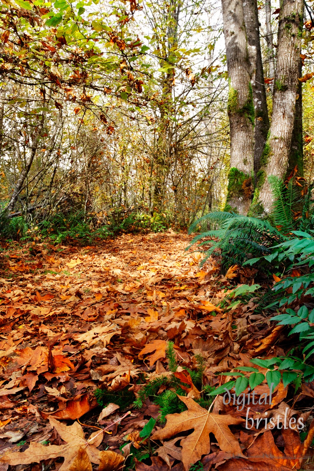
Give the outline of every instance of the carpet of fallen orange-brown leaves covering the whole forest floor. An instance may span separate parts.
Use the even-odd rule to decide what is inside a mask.
[[[201,252],[195,247],[185,252],[190,240],[185,233],[168,231],[121,235],[85,247],[4,246],[0,471],[113,471],[123,461],[121,453],[127,457],[130,452],[138,461],[128,458],[126,466],[138,471],[188,470],[195,453],[203,458],[194,471],[314,469],[309,464],[313,426],[304,443],[290,427],[274,432],[263,422],[249,430],[248,407],[239,411],[225,405],[222,396],[210,414],[205,411],[206,427],[200,422],[204,414],[191,412],[200,391],[182,367],[195,370],[195,355],[204,358],[203,384],[218,386],[228,377],[217,373],[239,365],[256,367],[252,357],[284,351],[283,327],[255,312],[254,298],[232,309],[217,307],[235,285],[254,283],[256,270],[231,268],[221,275],[218,258],[200,269]],[[183,414],[191,412],[193,427],[180,428],[176,415],[172,432],[163,437],[170,441],[147,441],[139,432],[157,418],[156,404],[147,398],[137,410],[132,403],[119,408],[112,400],[102,411],[94,392],[106,387],[113,395],[131,390],[137,396],[148,379],[171,375],[168,341],[175,344],[177,378],[185,378],[188,386],[188,412]],[[314,386],[306,388],[295,398],[280,383],[270,404],[259,401],[249,417],[268,414],[282,424],[288,409],[288,416],[308,421],[310,411],[297,407],[306,398],[313,402]],[[164,390],[161,386],[158,394]],[[256,391],[259,398],[269,394],[265,382]],[[216,425],[210,426],[209,416],[216,418]],[[153,426],[158,436],[161,424]],[[195,438],[200,427],[207,438],[201,433]],[[149,455],[154,455],[152,461]]]

